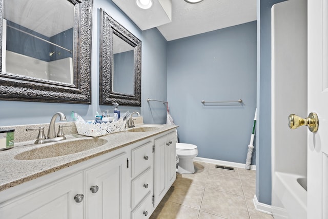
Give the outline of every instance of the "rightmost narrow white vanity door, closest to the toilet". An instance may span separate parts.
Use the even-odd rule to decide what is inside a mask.
[[[175,181],[176,178],[176,165],[175,165],[175,142],[176,142],[176,134],[175,132],[171,132],[168,136],[168,145],[165,148],[165,162],[166,162],[166,183],[167,188],[170,188]]]

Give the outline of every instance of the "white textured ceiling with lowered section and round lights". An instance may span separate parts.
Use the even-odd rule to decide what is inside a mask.
[[[138,8],[135,0],[112,1],[141,30],[157,27],[167,41],[256,20],[256,0],[152,0],[150,9]]]

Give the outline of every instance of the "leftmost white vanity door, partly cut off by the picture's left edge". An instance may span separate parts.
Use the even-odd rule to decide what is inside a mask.
[[[0,206],[0,217],[80,219],[83,218],[83,202],[76,203],[74,200],[74,196],[80,193],[83,193],[82,172],[9,200]]]

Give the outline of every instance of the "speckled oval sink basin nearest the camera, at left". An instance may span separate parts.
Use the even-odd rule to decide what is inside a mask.
[[[36,160],[49,157],[63,156],[81,151],[90,150],[107,143],[102,138],[92,138],[76,140],[71,142],[59,142],[45,147],[39,147],[19,153],[15,156],[16,160]]]

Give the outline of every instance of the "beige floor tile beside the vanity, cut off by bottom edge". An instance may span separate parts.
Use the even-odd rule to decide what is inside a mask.
[[[159,203],[151,219],[197,219],[199,210],[189,208],[170,201]]]

